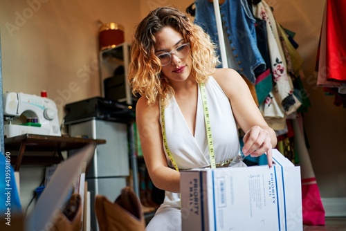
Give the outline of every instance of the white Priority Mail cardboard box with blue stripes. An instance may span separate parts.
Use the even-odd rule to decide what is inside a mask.
[[[303,230],[300,167],[277,149],[273,162],[181,172],[183,231]]]

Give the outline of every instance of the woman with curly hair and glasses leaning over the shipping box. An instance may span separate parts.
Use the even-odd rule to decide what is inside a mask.
[[[141,95],[136,122],[149,176],[165,190],[147,230],[181,230],[179,171],[233,165],[239,154],[237,124],[245,133],[244,155],[266,153],[272,165],[275,132],[242,77],[215,68],[214,48],[210,37],[174,8],[153,10],[136,28],[129,66],[133,92]]]

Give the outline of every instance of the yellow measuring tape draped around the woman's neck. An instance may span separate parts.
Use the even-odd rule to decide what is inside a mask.
[[[210,118],[209,118],[209,112],[208,112],[208,104],[207,104],[207,95],[206,95],[206,86],[204,83],[199,84],[199,88],[201,89],[201,96],[202,96],[202,104],[203,104],[203,113],[204,113],[204,121],[206,122],[206,133],[207,133],[207,140],[208,140],[208,147],[209,147],[209,154],[210,154],[210,167],[212,169],[216,168],[215,163],[215,154],[214,154],[214,145],[212,144],[212,129],[210,125]],[[167,145],[167,136],[165,132],[165,109],[161,106],[161,120],[162,120],[162,136],[163,136],[163,144],[165,145],[165,149],[167,151],[167,155],[170,158],[172,164],[174,165],[174,169],[179,172],[179,168],[176,165],[173,156],[170,152],[170,149]]]

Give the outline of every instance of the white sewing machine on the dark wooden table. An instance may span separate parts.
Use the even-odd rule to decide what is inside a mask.
[[[61,136],[57,107],[53,100],[37,95],[10,92],[3,94],[4,135]],[[26,121],[22,121],[22,120]]]

